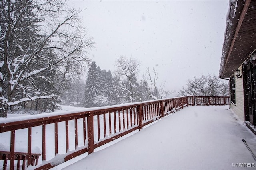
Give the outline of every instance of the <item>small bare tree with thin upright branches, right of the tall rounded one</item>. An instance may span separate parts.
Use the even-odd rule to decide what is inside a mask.
[[[162,99],[162,98],[166,98],[166,96],[174,93],[174,91],[166,91],[165,90],[165,81],[163,83],[161,83],[159,86],[157,85],[157,80],[158,80],[158,73],[156,72],[156,70],[153,68],[153,74],[150,73],[149,68],[146,69],[146,75],[143,75],[143,81],[144,82],[148,82],[149,83],[147,86],[147,93],[148,96],[150,96],[150,98],[152,99]]]

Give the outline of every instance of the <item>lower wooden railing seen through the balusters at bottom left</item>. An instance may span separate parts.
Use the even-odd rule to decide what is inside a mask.
[[[28,159],[28,153],[22,152],[14,152],[15,156],[14,159],[17,161],[17,170],[20,169],[20,160],[22,160],[22,170],[25,170],[26,160]],[[41,154],[32,153],[31,154],[31,165],[35,166],[38,163],[39,156]],[[4,160],[3,170],[7,169],[7,160],[10,160],[10,152],[8,151],[0,151],[0,160]]]

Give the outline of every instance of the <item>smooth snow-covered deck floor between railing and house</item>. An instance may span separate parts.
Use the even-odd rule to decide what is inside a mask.
[[[254,169],[256,136],[228,107],[186,107],[64,169]]]

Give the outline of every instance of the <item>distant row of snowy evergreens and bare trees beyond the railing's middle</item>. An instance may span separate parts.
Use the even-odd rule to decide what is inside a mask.
[[[62,95],[64,104],[80,107],[99,107],[165,98],[173,93],[158,84],[158,74],[147,68],[142,80],[138,80],[140,63],[133,58],[118,57],[116,71],[101,70],[93,61],[88,68],[85,83],[79,81],[76,86]],[[154,80],[152,80],[154,77]],[[83,92],[81,92],[83,90]]]

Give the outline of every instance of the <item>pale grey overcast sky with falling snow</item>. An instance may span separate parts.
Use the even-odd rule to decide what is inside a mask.
[[[81,13],[95,48],[88,57],[114,72],[116,58],[140,61],[140,77],[153,67],[159,83],[178,91],[188,79],[218,75],[228,0],[70,1]],[[140,79],[140,78],[139,78]]]

